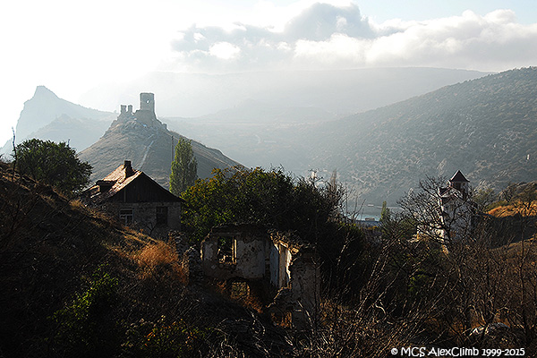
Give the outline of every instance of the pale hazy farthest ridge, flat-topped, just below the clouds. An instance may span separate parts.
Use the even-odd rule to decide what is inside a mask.
[[[439,68],[371,68],[330,71],[271,71],[226,74],[151,72],[131,83],[90,90],[82,103],[114,108],[117,99],[151,89],[162,117],[199,117],[253,100],[277,107],[315,107],[337,115],[387,106],[488,73]]]

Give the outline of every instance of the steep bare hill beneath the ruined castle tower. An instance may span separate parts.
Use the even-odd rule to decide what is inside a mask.
[[[81,151],[79,158],[93,166],[91,181],[102,179],[127,159],[135,169],[167,188],[175,144],[180,136],[168,131],[154,112],[138,110],[133,114],[120,114],[96,143]],[[211,176],[215,167],[238,164],[219,150],[197,141],[192,141],[192,149],[198,160],[200,178]]]

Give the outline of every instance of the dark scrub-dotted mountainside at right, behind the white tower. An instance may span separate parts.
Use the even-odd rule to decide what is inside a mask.
[[[395,202],[425,175],[460,169],[497,190],[537,178],[537,67],[492,74],[304,128],[310,166]]]

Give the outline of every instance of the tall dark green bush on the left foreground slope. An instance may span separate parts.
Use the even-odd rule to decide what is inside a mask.
[[[57,328],[53,350],[62,356],[110,356],[119,347],[121,328],[112,311],[117,303],[118,280],[98,268],[90,286],[71,304],[52,316]]]

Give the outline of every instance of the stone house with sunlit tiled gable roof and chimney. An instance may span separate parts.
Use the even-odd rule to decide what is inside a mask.
[[[82,192],[82,201],[118,217],[125,225],[165,236],[181,229],[183,199],[160,186],[125,160],[112,173]]]

